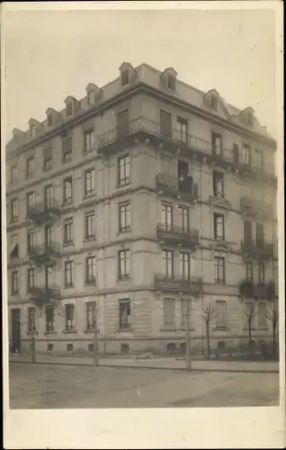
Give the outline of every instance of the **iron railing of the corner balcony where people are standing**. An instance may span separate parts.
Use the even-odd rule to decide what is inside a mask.
[[[159,173],[156,175],[156,189],[157,191],[174,191],[174,193],[186,193],[193,197],[199,197],[199,186],[192,183],[190,176],[181,179],[174,175],[167,175]]]

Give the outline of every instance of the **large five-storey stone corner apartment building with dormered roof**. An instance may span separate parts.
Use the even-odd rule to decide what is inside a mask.
[[[95,321],[110,351],[179,348],[185,311],[200,346],[203,305],[215,311],[211,346],[236,347],[248,302],[253,338],[267,340],[275,140],[251,107],[202,93],[172,67],[119,70],[14,129],[6,146],[12,351],[32,332],[43,352],[85,351]]]

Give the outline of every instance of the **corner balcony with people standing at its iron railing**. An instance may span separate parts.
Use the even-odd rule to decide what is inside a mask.
[[[179,177],[165,174],[156,175],[156,192],[176,199],[182,199],[192,204],[198,202],[199,186],[192,183],[192,177]]]

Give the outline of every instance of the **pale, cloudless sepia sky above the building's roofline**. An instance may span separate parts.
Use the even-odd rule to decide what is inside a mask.
[[[251,105],[275,138],[273,11],[13,11],[4,22],[4,132],[27,130],[68,94],[102,87],[123,61],[164,70],[228,103]]]

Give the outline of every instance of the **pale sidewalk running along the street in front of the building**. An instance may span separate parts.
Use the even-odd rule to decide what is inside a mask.
[[[31,363],[31,355],[9,356],[11,363]],[[48,365],[84,365],[93,366],[94,360],[90,357],[57,357],[37,355],[37,364]],[[175,358],[101,358],[99,366],[120,367],[126,369],[161,369],[161,370],[185,370],[185,361]],[[268,373],[278,374],[279,363],[277,362],[248,362],[248,361],[192,361],[193,371],[209,372],[246,372],[246,373]]]

